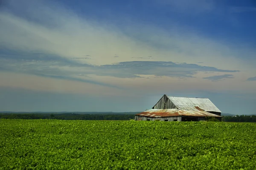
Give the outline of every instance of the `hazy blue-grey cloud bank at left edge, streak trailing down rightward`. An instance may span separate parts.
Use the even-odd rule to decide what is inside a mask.
[[[94,66],[90,64],[79,64],[79,62],[74,62],[54,54],[26,54],[22,51],[3,54],[3,51],[1,52],[1,71],[32,74],[55,79],[67,79],[117,88],[114,85],[102,83],[87,76],[81,78],[81,74],[94,73],[91,69],[94,68]]]

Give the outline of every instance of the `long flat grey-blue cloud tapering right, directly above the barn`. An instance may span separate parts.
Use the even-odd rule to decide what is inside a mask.
[[[112,65],[101,65],[97,75],[119,78],[140,77],[139,75],[155,75],[166,77],[193,77],[198,72],[239,72],[237,70],[222,70],[215,67],[196,64],[154,61],[119,62]]]

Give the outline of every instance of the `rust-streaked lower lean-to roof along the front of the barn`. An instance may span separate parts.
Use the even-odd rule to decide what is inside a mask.
[[[222,117],[206,111],[188,111],[180,109],[150,109],[145,112],[136,114],[137,116],[148,116],[148,117],[169,117],[169,116],[197,116],[197,117]]]

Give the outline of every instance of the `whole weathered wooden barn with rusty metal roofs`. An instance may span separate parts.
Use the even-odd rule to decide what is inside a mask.
[[[135,115],[135,120],[200,121],[215,117],[221,121],[221,111],[208,98],[172,97],[166,94],[148,111]]]

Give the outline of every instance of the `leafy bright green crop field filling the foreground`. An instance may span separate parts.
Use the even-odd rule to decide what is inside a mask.
[[[1,170],[255,170],[256,124],[0,119]]]

